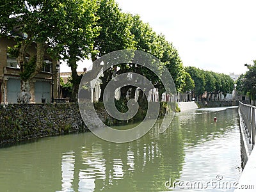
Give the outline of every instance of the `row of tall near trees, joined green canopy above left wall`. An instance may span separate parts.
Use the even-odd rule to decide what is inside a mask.
[[[76,71],[77,61],[84,58],[95,61],[120,49],[137,49],[156,56],[170,71],[177,91],[194,87],[191,74],[186,73],[173,44],[164,35],[157,35],[139,15],[122,12],[115,0],[4,0],[0,6],[0,28],[1,35],[12,33],[17,40],[17,45],[9,51],[15,54],[21,74],[24,74],[20,90],[21,95],[27,95],[24,98],[27,101],[31,97],[29,81],[41,72],[45,54],[56,60],[67,60],[72,70],[73,101],[77,99],[81,79]],[[31,44],[36,44],[36,55],[26,61],[26,50]],[[161,66],[156,67],[161,69]],[[164,91],[156,75],[145,68],[127,63],[120,72],[127,71],[142,74],[161,89],[160,92]],[[114,68],[104,72],[102,90],[113,72]],[[196,93],[199,94],[200,89],[195,86]]]

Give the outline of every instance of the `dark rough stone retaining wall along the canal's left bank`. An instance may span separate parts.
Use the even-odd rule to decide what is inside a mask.
[[[119,106],[124,110],[123,106]],[[107,125],[122,124],[108,115],[102,103],[95,104],[100,120]],[[159,116],[165,114],[161,104]],[[143,120],[147,111],[139,108],[129,123]],[[96,122],[95,122],[96,124]],[[88,131],[77,103],[0,105],[0,146],[17,141]]]

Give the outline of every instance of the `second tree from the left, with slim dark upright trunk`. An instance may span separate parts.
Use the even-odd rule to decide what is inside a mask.
[[[96,25],[99,18],[95,13],[98,8],[99,4],[95,0],[68,1],[65,5],[65,15],[63,15],[68,19],[63,20],[63,25],[70,26],[70,28],[58,31],[54,38],[56,47],[52,49],[52,53],[66,60],[71,69],[70,99],[72,102],[77,102],[79,84],[83,76],[77,74],[77,61],[88,59],[91,54],[97,53],[93,49],[93,44],[100,30],[100,27]]]

